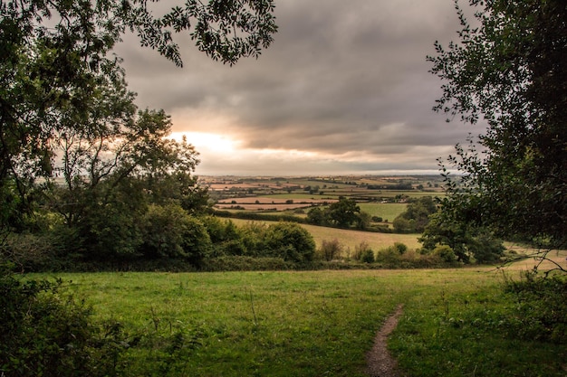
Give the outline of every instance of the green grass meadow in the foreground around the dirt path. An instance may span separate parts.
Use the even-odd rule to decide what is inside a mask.
[[[511,272],[516,278],[517,271]],[[364,376],[390,348],[411,376],[560,376],[564,345],[516,340],[490,269],[65,274],[96,316],[130,333],[128,376]],[[505,325],[505,324],[504,324]]]

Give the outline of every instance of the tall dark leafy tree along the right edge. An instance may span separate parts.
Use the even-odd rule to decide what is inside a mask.
[[[567,241],[567,3],[456,5],[460,42],[428,57],[444,80],[435,109],[487,130],[441,162],[452,221],[504,237]],[[459,175],[449,174],[456,170]]]

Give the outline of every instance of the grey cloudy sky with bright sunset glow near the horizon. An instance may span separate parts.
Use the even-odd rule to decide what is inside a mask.
[[[117,49],[142,108],[164,108],[200,153],[197,174],[437,174],[469,125],[431,108],[436,40],[453,0],[276,0],[279,32],[229,67],[177,39],[184,68],[126,38]]]

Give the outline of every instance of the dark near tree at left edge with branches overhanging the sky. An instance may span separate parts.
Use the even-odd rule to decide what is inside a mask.
[[[54,141],[129,121],[134,98],[111,49],[127,31],[182,65],[172,34],[228,64],[258,56],[276,31],[272,0],[188,0],[157,17],[139,0],[0,3],[0,212],[3,229],[33,211],[38,178],[53,175]],[[116,85],[115,85],[116,84]],[[109,96],[108,89],[117,89]],[[97,112],[90,111],[93,103]],[[102,128],[102,130],[100,129]]]

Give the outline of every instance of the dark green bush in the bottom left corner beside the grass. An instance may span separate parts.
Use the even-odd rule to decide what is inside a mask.
[[[128,347],[121,325],[96,325],[62,280],[22,281],[2,265],[0,292],[1,374],[118,375]]]

